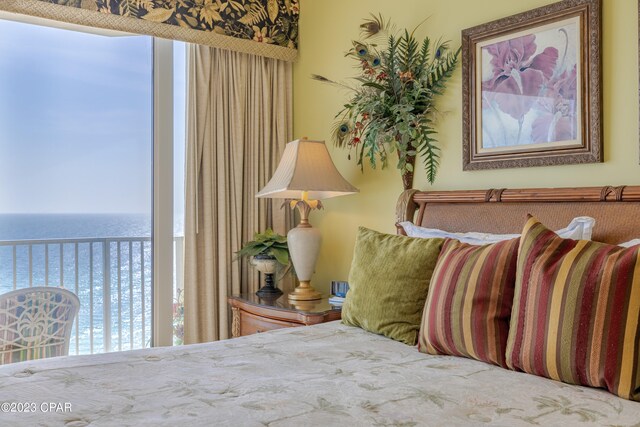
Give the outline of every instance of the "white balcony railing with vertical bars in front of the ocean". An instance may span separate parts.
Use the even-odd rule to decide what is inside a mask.
[[[174,239],[177,289],[182,289],[183,244],[183,237]],[[60,285],[80,298],[69,354],[150,345],[150,237],[0,241],[0,293]]]

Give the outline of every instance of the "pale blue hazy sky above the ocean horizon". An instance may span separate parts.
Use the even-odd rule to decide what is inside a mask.
[[[151,212],[152,43],[0,20],[0,213]]]

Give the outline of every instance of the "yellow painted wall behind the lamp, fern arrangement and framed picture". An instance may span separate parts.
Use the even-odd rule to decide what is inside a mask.
[[[394,232],[395,200],[402,191],[399,172],[365,168],[360,173],[347,152],[330,143],[334,115],[348,94],[313,81],[311,74],[346,79],[356,71],[344,58],[358,25],[370,12],[381,12],[399,28],[413,28],[430,16],[418,35],[443,36],[460,45],[464,28],[552,3],[547,0],[302,0],[300,55],[294,66],[294,133],[327,140],[338,169],[360,189],[355,196],[329,199],[311,222],[323,233],[315,286],[328,291],[330,280],[348,277],[357,227]],[[640,184],[638,165],[638,11],[636,0],[603,0],[603,94],[605,163],[545,168],[462,171],[460,70],[448,84],[439,108],[448,115],[438,124],[442,162],[433,187],[420,168],[419,189],[568,187]],[[420,160],[418,160],[420,161]]]

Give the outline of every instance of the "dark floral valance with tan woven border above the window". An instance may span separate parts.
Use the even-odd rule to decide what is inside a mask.
[[[0,10],[293,60],[298,0],[2,0]]]

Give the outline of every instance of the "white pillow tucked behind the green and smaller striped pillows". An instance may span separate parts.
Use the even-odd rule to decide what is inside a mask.
[[[579,216],[571,220],[568,226],[561,230],[557,230],[556,234],[564,239],[573,240],[591,240],[591,233],[596,220],[588,216]],[[462,243],[470,245],[488,245],[491,243],[502,242],[520,237],[519,234],[490,234],[490,233],[452,233],[449,231],[438,230],[437,228],[424,228],[415,225],[412,222],[401,222],[405,233],[409,237],[422,238],[450,238],[460,240]]]

